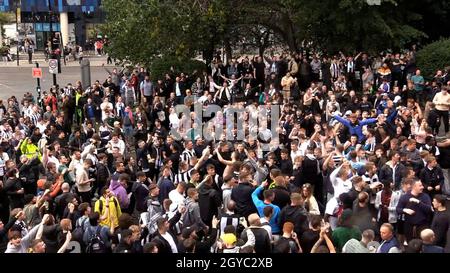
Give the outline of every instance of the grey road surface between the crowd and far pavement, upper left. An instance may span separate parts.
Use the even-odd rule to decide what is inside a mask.
[[[39,62],[42,67],[41,90],[49,90],[53,85],[52,74],[48,72],[48,64]],[[15,64],[9,63],[8,66],[0,64],[0,99],[8,99],[11,96],[17,98],[23,97],[26,92],[36,93],[36,79],[31,75],[32,67],[30,65],[21,65],[19,67]],[[62,73],[56,75],[57,83],[60,86],[65,86],[67,83],[75,84],[76,81],[81,80],[81,69],[78,64],[71,63],[70,66],[63,66]],[[91,83],[95,80],[103,82],[107,77],[106,71],[100,65],[91,66]]]

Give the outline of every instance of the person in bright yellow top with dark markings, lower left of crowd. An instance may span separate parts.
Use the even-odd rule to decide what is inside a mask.
[[[122,215],[122,210],[119,201],[108,187],[102,189],[102,196],[95,202],[94,211],[100,214],[101,226],[110,228],[119,226],[119,217]]]

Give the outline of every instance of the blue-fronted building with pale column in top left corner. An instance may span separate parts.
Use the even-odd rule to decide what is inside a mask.
[[[15,12],[17,3],[19,40],[31,38],[37,49],[45,48],[52,32],[61,33],[64,45],[86,46],[104,21],[101,0],[0,0],[0,12]]]

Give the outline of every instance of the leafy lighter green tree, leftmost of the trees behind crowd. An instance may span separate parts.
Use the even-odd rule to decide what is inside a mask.
[[[119,60],[149,65],[154,58],[203,53],[212,59],[224,33],[225,0],[105,0],[106,50]],[[223,37],[223,36],[222,36]]]

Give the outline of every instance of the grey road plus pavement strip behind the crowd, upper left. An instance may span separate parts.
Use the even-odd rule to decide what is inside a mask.
[[[29,64],[28,58],[24,59],[21,56],[19,66],[15,61],[5,64],[0,60],[0,99],[5,100],[13,95],[20,99],[26,92],[32,92],[33,95],[37,96],[37,81],[32,77],[32,68],[36,67],[36,62],[42,68],[41,90],[50,89],[53,85],[53,74],[48,71],[48,62],[45,61],[43,54],[34,54],[33,57],[36,57],[33,58],[33,64]],[[90,61],[91,83],[96,80],[103,82],[108,76],[108,73],[102,67],[102,64],[106,64],[106,57],[89,56],[85,59]],[[113,68],[111,65],[105,65],[105,67]],[[71,60],[66,62],[65,65],[62,63],[61,70],[62,73],[56,74],[57,83],[60,86],[67,83],[74,84],[81,80],[81,68],[78,61]]]

